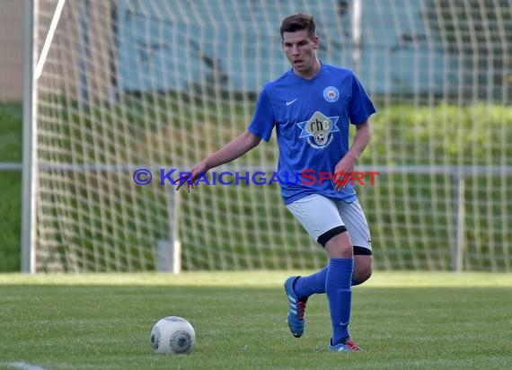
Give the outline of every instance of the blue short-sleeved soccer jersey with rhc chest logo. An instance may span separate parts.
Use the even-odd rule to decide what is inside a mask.
[[[285,204],[310,194],[356,199],[350,183],[340,190],[326,180],[349,151],[349,123],[358,125],[375,107],[352,71],[322,64],[311,80],[292,69],[265,84],[248,130],[279,146],[278,178]]]

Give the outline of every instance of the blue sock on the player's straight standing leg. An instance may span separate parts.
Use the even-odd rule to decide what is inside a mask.
[[[352,304],[351,279],[353,259],[331,259],[325,278],[325,293],[329,300],[332,323],[332,344],[349,338],[350,306]]]

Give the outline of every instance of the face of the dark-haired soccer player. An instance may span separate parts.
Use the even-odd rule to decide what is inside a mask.
[[[297,75],[313,77],[317,71],[316,49],[318,36],[311,38],[307,31],[284,32],[282,46]]]

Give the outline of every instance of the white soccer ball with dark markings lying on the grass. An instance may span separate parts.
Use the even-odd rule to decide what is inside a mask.
[[[161,355],[186,355],[195,344],[194,328],[179,316],[164,317],[151,330],[151,345]]]

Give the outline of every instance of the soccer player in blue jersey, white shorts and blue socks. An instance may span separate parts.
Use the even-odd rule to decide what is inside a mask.
[[[247,153],[261,139],[269,141],[274,128],[280,179],[304,171],[332,173],[328,180],[308,177],[308,181],[280,183],[287,209],[329,255],[324,269],[307,277],[287,278],[287,320],[292,334],[301,337],[308,297],[325,293],[332,323],[328,350],[358,351],[361,348],[349,334],[351,286],[370,277],[373,256],[366,216],[353,184],[343,176],[354,172],[370,141],[369,117],[375,107],[352,71],[319,60],[315,29],[309,14],[290,15],[282,21],[281,46],[291,69],[265,84],[248,128],[196,164],[176,189],[187,183],[190,191],[205,172]],[[349,124],[357,130],[352,145]]]

